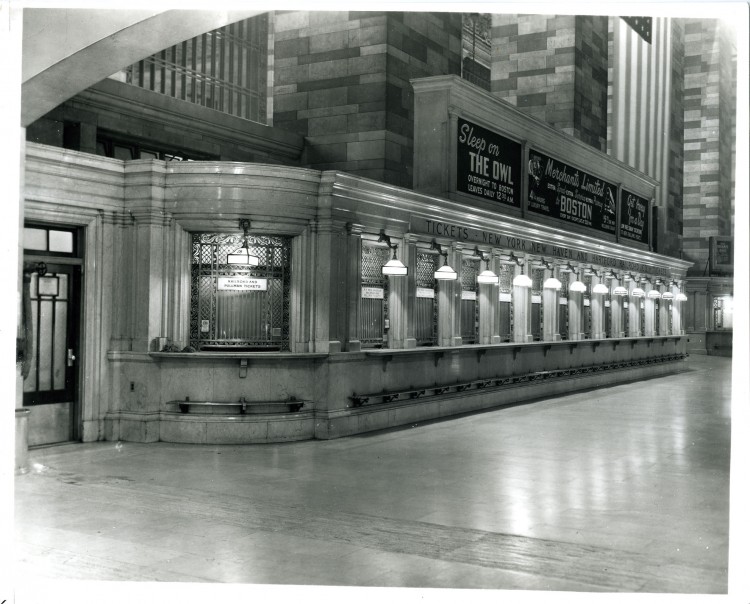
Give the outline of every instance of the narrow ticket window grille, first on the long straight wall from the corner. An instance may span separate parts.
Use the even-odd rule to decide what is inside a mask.
[[[387,247],[363,242],[359,339],[364,347],[382,348],[388,341],[388,278],[382,267],[389,259]]]

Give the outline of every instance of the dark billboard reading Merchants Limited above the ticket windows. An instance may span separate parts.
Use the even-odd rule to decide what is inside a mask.
[[[529,210],[605,233],[615,233],[617,187],[553,159],[529,152]]]

